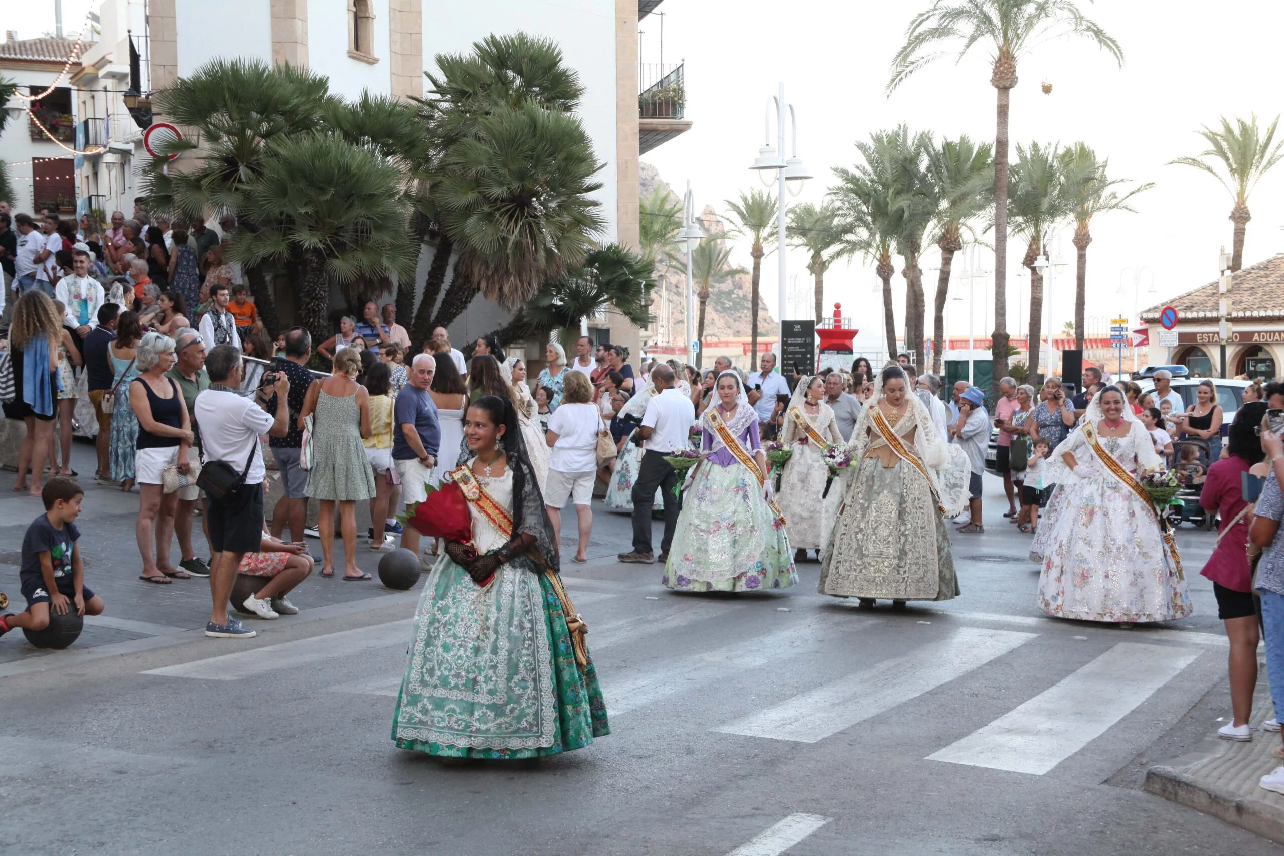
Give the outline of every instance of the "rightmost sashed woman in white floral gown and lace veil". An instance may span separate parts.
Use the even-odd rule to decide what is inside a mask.
[[[1176,542],[1136,481],[1159,458],[1126,400],[1103,389],[1049,456],[1055,504],[1030,548],[1048,615],[1127,626],[1192,613]]]

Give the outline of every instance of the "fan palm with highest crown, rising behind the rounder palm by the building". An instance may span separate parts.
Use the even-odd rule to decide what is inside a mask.
[[[469,272],[465,270],[465,275],[460,276],[460,270],[456,270],[456,277],[434,317],[452,254],[462,254],[470,249],[462,236],[440,222],[442,207],[435,193],[442,186],[442,172],[453,149],[465,140],[483,139],[479,123],[496,110],[517,110],[534,104],[546,110],[571,113],[579,107],[579,99],[584,94],[579,76],[565,67],[556,42],[520,32],[487,36],[474,42],[469,54],[438,54],[434,62],[439,73],[425,73],[431,85],[428,98],[415,99],[422,133],[433,151],[429,166],[433,191],[421,212],[428,223],[425,235],[433,235],[437,240],[424,293],[413,316],[412,335],[416,340],[425,339],[433,327],[446,326],[458,317],[478,291],[478,284]],[[498,164],[510,154],[512,153],[494,150],[492,159]],[[550,191],[544,198],[546,203],[560,189]],[[496,216],[506,214],[497,210]],[[529,289],[530,285],[526,281],[523,287]]]

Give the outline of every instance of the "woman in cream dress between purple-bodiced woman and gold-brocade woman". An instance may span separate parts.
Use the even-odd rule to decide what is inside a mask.
[[[799,381],[794,398],[785,411],[782,441],[794,449],[781,475],[777,499],[790,530],[790,544],[797,551],[796,561],[814,549],[820,557],[820,499],[829,467],[822,457],[833,443],[842,443],[833,411],[824,403],[824,382],[815,375]]]

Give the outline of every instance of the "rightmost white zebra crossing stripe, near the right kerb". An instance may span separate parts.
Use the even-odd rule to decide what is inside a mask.
[[[1043,775],[1100,737],[1201,655],[1121,642],[930,761]]]

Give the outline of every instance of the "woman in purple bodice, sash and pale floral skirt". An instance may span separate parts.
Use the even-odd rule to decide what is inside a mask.
[[[772,507],[758,413],[734,371],[714,389],[719,403],[700,418],[707,456],[683,497],[661,583],[683,592],[786,589],[799,578]]]

